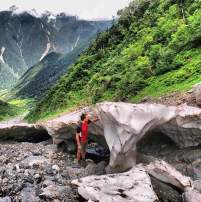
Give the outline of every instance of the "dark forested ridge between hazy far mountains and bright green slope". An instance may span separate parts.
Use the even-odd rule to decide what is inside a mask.
[[[64,55],[56,52],[49,53],[25,72],[11,93],[21,98],[40,99],[67,72],[89,42],[90,40],[82,43]]]

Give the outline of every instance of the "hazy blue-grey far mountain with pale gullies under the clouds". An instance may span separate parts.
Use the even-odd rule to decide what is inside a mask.
[[[50,18],[50,14],[35,17],[12,11],[0,12],[0,24],[0,61],[11,69],[10,73],[0,72],[4,78],[22,76],[52,51],[69,53],[109,26],[109,22],[78,20],[65,14]],[[8,88],[14,82],[0,81],[0,88]]]

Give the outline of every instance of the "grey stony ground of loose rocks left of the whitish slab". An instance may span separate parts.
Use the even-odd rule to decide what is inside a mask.
[[[106,162],[77,168],[73,155],[46,143],[0,144],[0,202],[83,201],[73,179],[104,174]]]

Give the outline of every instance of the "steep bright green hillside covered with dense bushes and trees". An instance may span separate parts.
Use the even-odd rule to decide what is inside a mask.
[[[138,0],[118,15],[28,120],[103,100],[137,102],[201,81],[201,0]]]

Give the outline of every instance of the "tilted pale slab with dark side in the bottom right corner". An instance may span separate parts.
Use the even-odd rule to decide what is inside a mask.
[[[200,189],[199,182],[193,182],[190,177],[182,175],[168,163],[164,161],[154,161],[147,165],[145,169],[154,179],[152,180],[154,190],[157,191],[159,198],[162,197],[162,200],[165,198],[169,198],[168,201],[181,200],[179,192],[183,192],[182,198],[185,202],[201,201],[201,193],[198,191]],[[163,193],[164,185],[165,194]],[[156,186],[159,187],[159,190],[157,190]],[[171,187],[174,188],[174,190]]]

